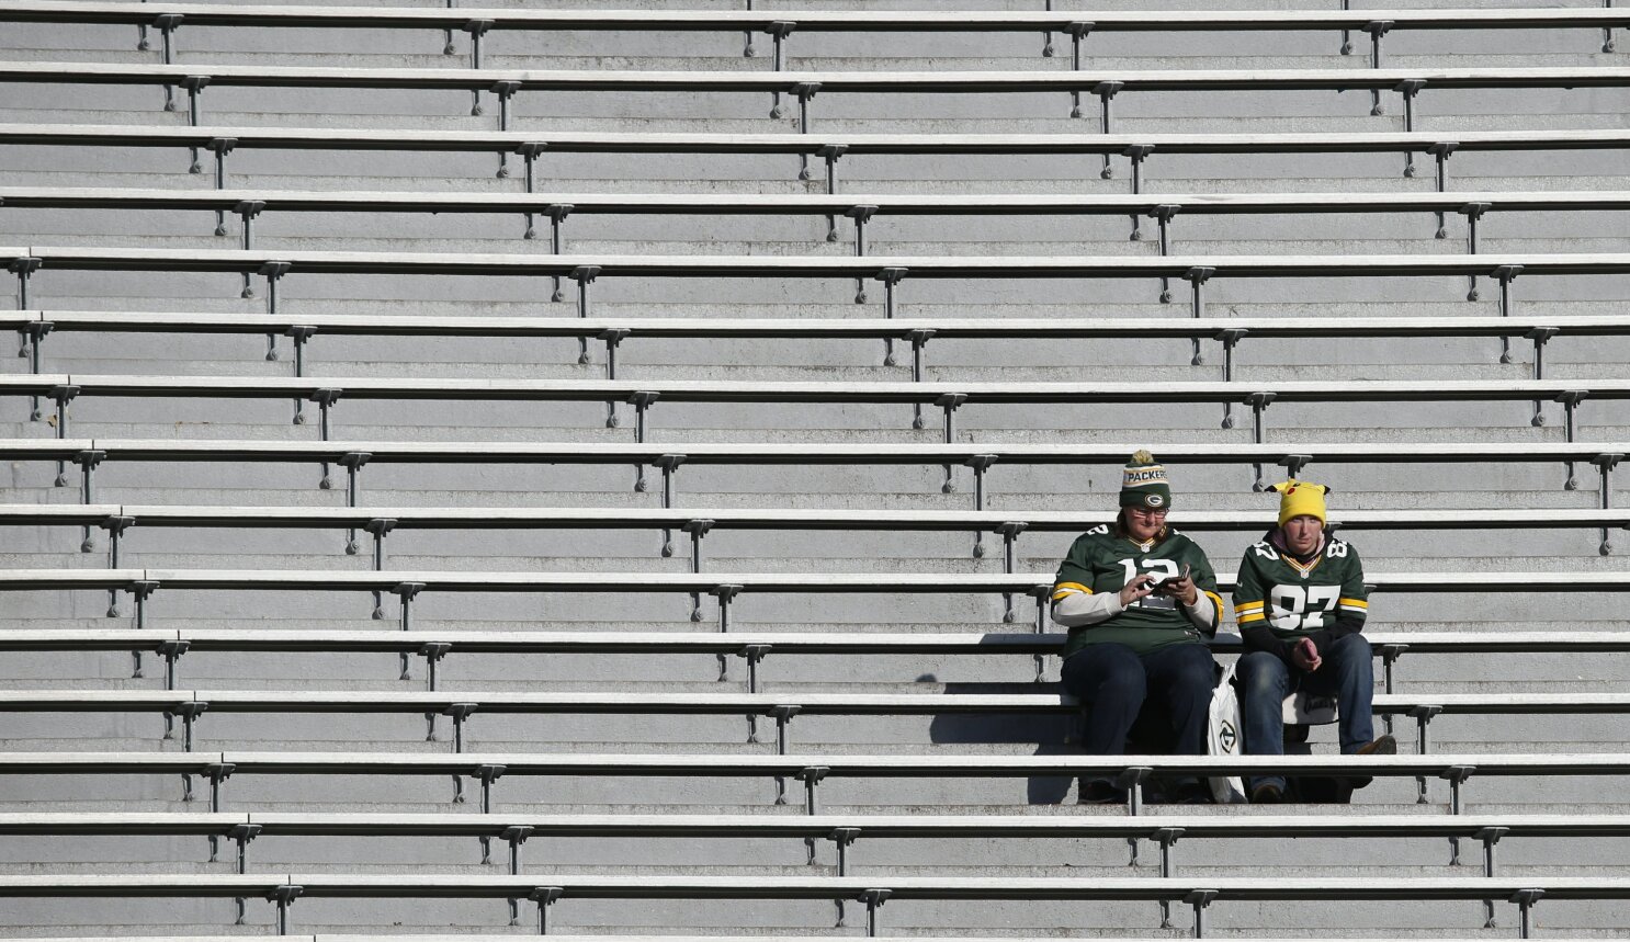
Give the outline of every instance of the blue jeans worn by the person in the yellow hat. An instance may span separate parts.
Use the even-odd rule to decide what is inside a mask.
[[[1284,698],[1297,689],[1335,694],[1343,755],[1356,753],[1376,738],[1369,715],[1371,694],[1376,688],[1369,640],[1361,634],[1348,634],[1320,655],[1324,663],[1312,673],[1289,667],[1267,650],[1253,650],[1239,658],[1236,676],[1244,691],[1240,722],[1245,727],[1245,755],[1284,755]],[[1252,779],[1250,787],[1255,789],[1263,782],[1284,789],[1284,776]]]

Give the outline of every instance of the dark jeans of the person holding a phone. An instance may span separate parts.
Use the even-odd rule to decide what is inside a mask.
[[[1206,755],[1216,665],[1203,644],[1174,644],[1139,655],[1125,644],[1094,644],[1064,660],[1064,689],[1087,711],[1084,753],[1120,756],[1144,701],[1165,707],[1172,755]]]

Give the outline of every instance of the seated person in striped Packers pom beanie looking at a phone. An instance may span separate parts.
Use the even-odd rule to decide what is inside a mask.
[[[1146,702],[1170,717],[1174,755],[1205,755],[1216,681],[1211,649],[1222,598],[1195,541],[1165,525],[1172,487],[1148,451],[1121,476],[1113,525],[1082,533],[1058,567],[1053,621],[1069,629],[1064,689],[1087,709],[1082,750],[1118,756]],[[1200,779],[1175,782],[1178,802],[1205,802]],[[1107,779],[1082,781],[1081,800],[1120,802]]]

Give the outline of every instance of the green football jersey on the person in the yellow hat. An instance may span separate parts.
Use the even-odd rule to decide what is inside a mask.
[[[1240,629],[1267,624],[1288,640],[1327,629],[1338,618],[1363,623],[1368,611],[1358,551],[1333,536],[1307,566],[1267,539],[1245,549],[1239,564],[1234,619]]]

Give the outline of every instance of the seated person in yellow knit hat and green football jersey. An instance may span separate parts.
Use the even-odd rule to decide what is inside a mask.
[[[1395,753],[1374,737],[1374,676],[1364,616],[1369,595],[1358,551],[1325,531],[1328,487],[1284,481],[1280,523],[1245,549],[1234,590],[1234,618],[1245,637],[1239,658],[1245,755],[1284,755],[1284,698],[1297,689],[1335,694],[1345,755]],[[1250,800],[1284,799],[1284,776],[1250,781]]]

